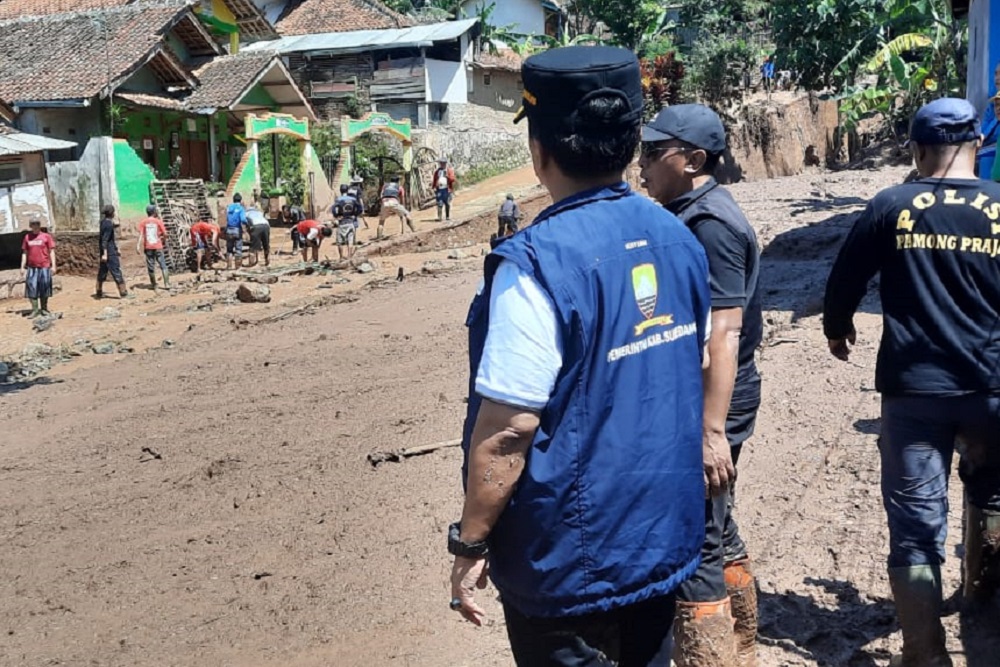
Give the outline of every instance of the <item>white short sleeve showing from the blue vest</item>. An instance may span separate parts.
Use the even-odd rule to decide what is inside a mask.
[[[501,261],[493,277],[476,393],[497,403],[541,410],[552,396],[562,357],[552,299],[516,264]]]

